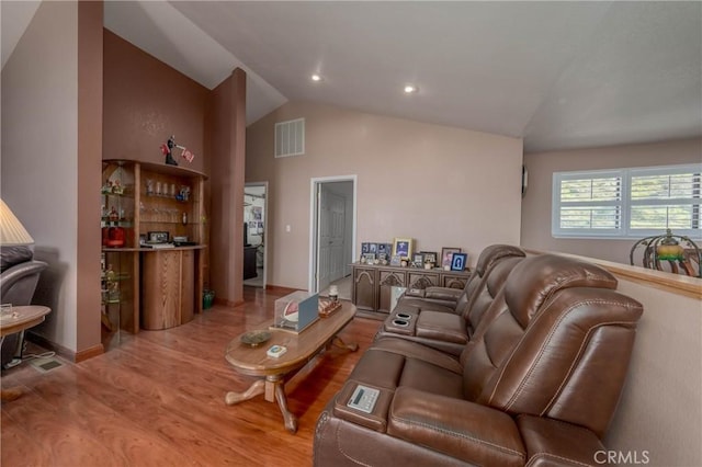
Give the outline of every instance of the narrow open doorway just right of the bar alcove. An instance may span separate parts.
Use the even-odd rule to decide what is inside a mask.
[[[268,182],[244,185],[244,285],[265,288]]]

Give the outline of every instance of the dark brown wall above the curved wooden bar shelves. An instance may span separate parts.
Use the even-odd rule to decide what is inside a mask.
[[[174,150],[179,166],[205,171],[205,113],[210,90],[104,30],[102,159],[163,163],[160,146],[171,135],[195,159]]]

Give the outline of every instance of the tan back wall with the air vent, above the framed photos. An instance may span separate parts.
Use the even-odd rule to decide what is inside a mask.
[[[274,124],[305,118],[305,155],[273,157]],[[268,283],[307,288],[310,179],[358,175],[356,253],[411,237],[476,255],[519,243],[522,140],[288,102],[247,129],[247,181],[269,181]],[[286,231],[290,226],[290,231]]]

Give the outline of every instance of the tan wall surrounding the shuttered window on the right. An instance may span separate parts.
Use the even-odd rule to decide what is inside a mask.
[[[522,201],[521,244],[629,264],[636,239],[570,239],[551,235],[553,173],[626,167],[672,166],[702,161],[702,139],[611,146],[524,155],[529,189]]]

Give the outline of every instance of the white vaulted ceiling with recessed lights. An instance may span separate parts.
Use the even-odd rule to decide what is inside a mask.
[[[245,69],[248,123],[304,100],[528,152],[702,136],[699,1],[106,1],[105,27],[210,89]]]

